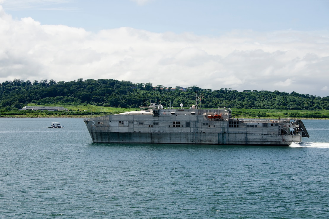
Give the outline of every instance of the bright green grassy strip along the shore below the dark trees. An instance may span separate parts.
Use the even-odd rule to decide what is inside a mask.
[[[40,106],[28,104],[28,106]],[[53,104],[42,106],[55,106]],[[58,105],[56,105],[58,106]],[[109,114],[117,114],[128,111],[138,111],[139,108],[117,108],[96,105],[62,105],[68,111],[32,111],[11,110],[0,111],[0,118],[92,118]],[[200,107],[203,108],[203,107]],[[212,109],[212,108],[206,108]],[[215,108],[213,108],[215,109]],[[303,120],[327,120],[329,110],[282,110],[282,109],[237,109],[231,108],[232,116],[241,119],[278,119],[291,118]]]

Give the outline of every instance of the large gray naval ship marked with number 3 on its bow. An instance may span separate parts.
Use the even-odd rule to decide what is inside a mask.
[[[93,142],[290,145],[309,137],[301,120],[235,119],[231,109],[141,106],[139,111],[86,118]]]

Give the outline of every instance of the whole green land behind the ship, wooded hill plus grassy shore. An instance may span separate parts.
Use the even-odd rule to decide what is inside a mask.
[[[316,97],[296,92],[219,90],[190,87],[153,86],[115,79],[74,81],[14,79],[0,83],[0,118],[90,118],[139,110],[139,106],[158,104],[164,107],[232,109],[235,118],[257,119],[328,119],[329,96]],[[63,106],[68,111],[20,110],[24,106]]]

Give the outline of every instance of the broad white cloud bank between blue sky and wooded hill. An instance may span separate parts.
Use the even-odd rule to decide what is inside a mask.
[[[0,82],[115,78],[329,95],[328,32],[235,31],[209,37],[122,27],[91,33],[41,25],[31,17],[14,20],[0,6],[0,42]]]

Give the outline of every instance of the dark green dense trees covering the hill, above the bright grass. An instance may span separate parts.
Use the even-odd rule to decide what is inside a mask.
[[[156,87],[156,90],[153,90]],[[202,89],[191,86],[186,91],[176,87],[165,91],[162,85],[137,83],[115,79],[87,79],[76,81],[14,79],[0,85],[0,110],[20,109],[28,103],[39,105],[97,105],[111,107],[139,107],[161,100],[165,107],[179,107],[181,103],[189,107],[195,104],[195,92],[203,94],[198,106],[217,108],[226,106],[239,109],[291,109],[329,110],[329,96],[316,97],[296,92],[244,90],[238,92],[228,88],[219,90]]]

